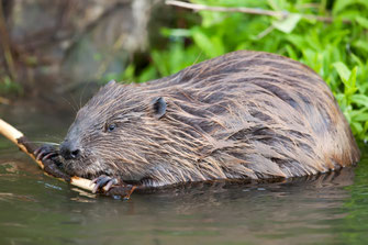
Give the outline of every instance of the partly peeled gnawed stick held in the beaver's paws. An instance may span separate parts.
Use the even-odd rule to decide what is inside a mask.
[[[85,190],[92,191],[96,183],[89,179],[80,178],[77,176],[68,176],[63,172],[52,159],[37,160],[33,154],[36,146],[31,143],[22,132],[0,119],[0,134],[4,135],[8,140],[14,143],[22,152],[27,154],[48,176],[69,182],[73,186],[79,187]],[[113,186],[109,191],[102,190],[103,193],[111,196],[121,196],[125,199],[130,198],[131,193],[136,187],[131,185]]]

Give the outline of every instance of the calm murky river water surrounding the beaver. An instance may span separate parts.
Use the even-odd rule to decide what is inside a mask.
[[[21,108],[1,108],[0,118],[35,141],[62,140],[71,121]],[[367,156],[313,179],[196,185],[122,201],[43,175],[0,136],[0,244],[367,243]]]

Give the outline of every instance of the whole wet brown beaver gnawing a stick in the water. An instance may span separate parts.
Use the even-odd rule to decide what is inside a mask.
[[[323,79],[276,54],[238,51],[146,83],[109,82],[58,151],[98,188],[272,180],[354,165],[360,153]]]

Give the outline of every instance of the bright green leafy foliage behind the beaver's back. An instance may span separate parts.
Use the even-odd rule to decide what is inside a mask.
[[[200,11],[189,29],[163,29],[165,49],[152,47],[152,63],[123,78],[144,81],[236,49],[278,53],[310,66],[333,90],[357,138],[368,140],[367,0],[192,0],[221,7],[288,11],[286,19],[234,12]],[[196,14],[188,12],[188,15]],[[332,16],[332,23],[308,14]],[[346,23],[346,20],[348,23]],[[189,42],[188,42],[189,41]],[[188,44],[189,43],[189,44]]]

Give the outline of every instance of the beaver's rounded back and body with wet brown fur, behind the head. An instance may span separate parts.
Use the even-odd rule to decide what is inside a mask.
[[[294,177],[359,159],[326,83],[292,59],[234,52],[147,88],[167,98],[169,126],[200,137],[196,167],[209,178]]]

